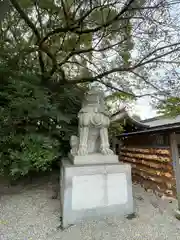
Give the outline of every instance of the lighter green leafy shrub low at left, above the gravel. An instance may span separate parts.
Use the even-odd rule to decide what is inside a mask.
[[[5,144],[0,153],[1,174],[12,179],[51,169],[52,161],[59,154],[58,141],[40,134],[14,135]]]

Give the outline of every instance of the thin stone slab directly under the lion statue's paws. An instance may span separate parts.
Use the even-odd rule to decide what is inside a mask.
[[[69,155],[69,159],[74,165],[119,163],[118,155],[103,155],[101,153],[92,153],[86,156]]]

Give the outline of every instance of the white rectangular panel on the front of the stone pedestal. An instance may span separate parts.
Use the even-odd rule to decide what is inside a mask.
[[[72,179],[73,210],[125,204],[127,195],[125,173],[74,176]]]

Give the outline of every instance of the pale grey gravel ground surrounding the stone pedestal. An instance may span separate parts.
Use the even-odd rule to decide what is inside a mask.
[[[106,218],[59,229],[59,201],[52,184],[16,186],[0,196],[0,240],[180,240],[180,221],[173,216],[177,202],[156,198],[133,187],[137,217]]]

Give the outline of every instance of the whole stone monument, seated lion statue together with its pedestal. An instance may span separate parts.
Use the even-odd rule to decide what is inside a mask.
[[[109,146],[110,118],[104,94],[89,90],[78,114],[78,136],[62,160],[60,175],[62,227],[92,217],[134,212],[131,166],[119,163]]]

